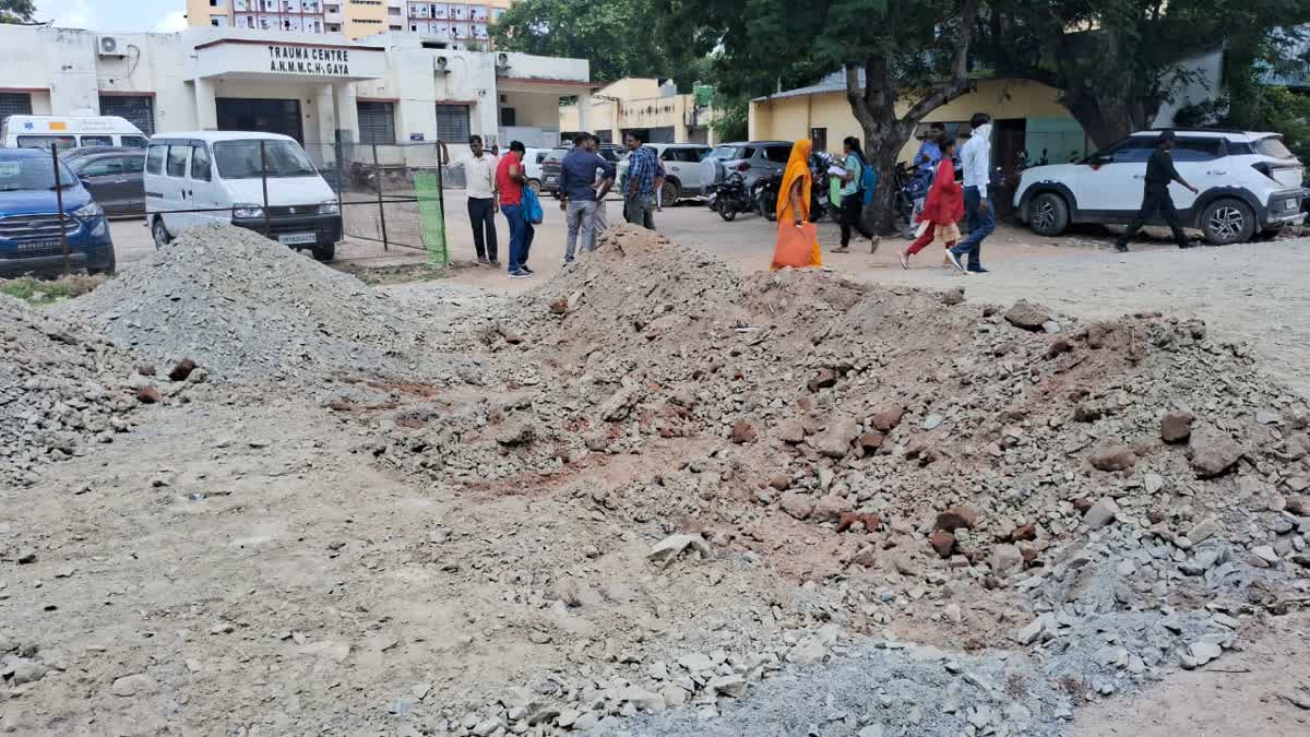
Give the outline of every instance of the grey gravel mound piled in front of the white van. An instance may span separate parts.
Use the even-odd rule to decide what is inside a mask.
[[[326,371],[385,365],[411,345],[384,294],[231,226],[187,231],[56,313],[148,359],[189,357],[228,380],[317,382]]]

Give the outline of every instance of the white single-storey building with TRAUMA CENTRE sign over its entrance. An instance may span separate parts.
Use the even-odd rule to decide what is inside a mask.
[[[383,146],[482,135],[548,147],[559,139],[561,97],[590,111],[590,76],[586,59],[456,50],[414,33],[347,41],[219,26],[97,34],[0,25],[0,119],[122,115],[147,134],[255,130]]]

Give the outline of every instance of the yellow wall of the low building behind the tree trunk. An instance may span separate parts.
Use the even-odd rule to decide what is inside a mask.
[[[976,92],[938,108],[924,122],[962,122],[979,111],[990,113],[997,119],[1072,119],[1069,111],[1060,105],[1058,94],[1055,88],[1026,80],[979,80]],[[908,102],[896,105],[897,114],[904,114],[908,109]],[[798,140],[808,138],[810,129],[816,127],[828,129],[829,147],[848,135],[863,139],[845,92],[753,101],[749,127],[755,140]],[[901,149],[901,159],[912,157],[917,148],[917,142],[907,143]]]

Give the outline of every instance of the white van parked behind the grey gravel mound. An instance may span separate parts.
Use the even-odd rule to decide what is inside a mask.
[[[160,248],[183,229],[206,223],[261,233],[267,228],[270,239],[297,250],[310,249],[320,261],[331,261],[341,240],[337,194],[293,138],[270,132],[151,136],[145,218]]]

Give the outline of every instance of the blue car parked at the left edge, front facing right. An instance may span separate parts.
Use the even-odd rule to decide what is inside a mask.
[[[83,182],[59,164],[60,193],[50,152],[0,148],[0,277],[56,274],[64,269],[56,194],[63,195],[64,232],[72,269],[114,273],[114,241],[105,211]]]

